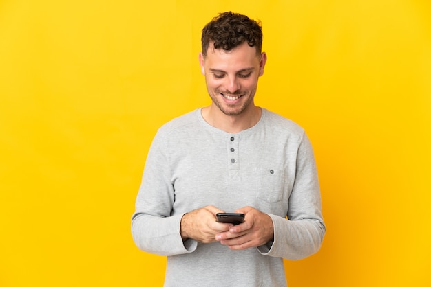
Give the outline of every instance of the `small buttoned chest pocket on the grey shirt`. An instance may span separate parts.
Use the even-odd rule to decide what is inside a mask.
[[[282,200],[284,190],[286,190],[284,170],[255,168],[252,181],[257,190],[257,198],[267,203]]]

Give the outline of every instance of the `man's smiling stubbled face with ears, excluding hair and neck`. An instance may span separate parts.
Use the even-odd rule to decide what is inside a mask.
[[[264,73],[265,53],[257,55],[247,43],[231,51],[213,49],[211,44],[207,56],[201,53],[199,60],[209,96],[225,115],[240,115],[253,103],[257,80]]]

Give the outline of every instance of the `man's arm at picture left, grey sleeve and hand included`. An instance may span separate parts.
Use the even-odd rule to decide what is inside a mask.
[[[147,155],[132,217],[132,235],[138,248],[149,253],[193,252],[198,242],[215,242],[215,234],[229,230],[231,225],[215,222],[215,214],[223,211],[212,205],[177,214],[173,211],[172,163],[164,153],[169,149],[163,143],[156,135]]]

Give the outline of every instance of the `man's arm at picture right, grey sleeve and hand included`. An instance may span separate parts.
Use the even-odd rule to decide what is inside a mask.
[[[296,166],[295,184],[288,200],[288,220],[253,207],[243,207],[235,212],[246,214],[246,222],[218,234],[217,240],[233,250],[257,247],[264,255],[291,260],[319,250],[326,227],[313,151],[305,134],[297,152]]]

